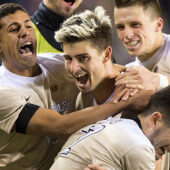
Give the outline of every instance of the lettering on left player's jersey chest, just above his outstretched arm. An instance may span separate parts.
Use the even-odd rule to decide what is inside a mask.
[[[70,102],[71,102],[71,98],[68,97],[61,103],[51,106],[50,109],[55,110],[59,112],[60,114],[67,113],[69,106],[70,106]]]

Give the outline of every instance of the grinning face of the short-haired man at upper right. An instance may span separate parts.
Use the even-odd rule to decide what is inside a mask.
[[[139,5],[115,8],[117,34],[131,56],[141,56],[146,60],[161,46],[163,21],[152,15],[150,8],[144,10]]]

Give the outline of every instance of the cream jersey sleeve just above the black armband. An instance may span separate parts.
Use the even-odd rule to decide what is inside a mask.
[[[26,100],[19,92],[8,87],[0,87],[0,101],[0,129],[11,133]]]

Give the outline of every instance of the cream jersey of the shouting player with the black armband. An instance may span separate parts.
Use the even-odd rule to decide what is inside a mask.
[[[0,169],[47,170],[57,151],[56,139],[16,133],[15,121],[26,103],[61,114],[75,109],[78,90],[61,55],[38,56],[42,74],[22,77],[0,67]]]

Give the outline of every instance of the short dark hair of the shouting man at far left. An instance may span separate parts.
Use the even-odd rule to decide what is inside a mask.
[[[0,19],[9,15],[14,14],[16,11],[24,11],[28,14],[28,12],[19,4],[16,3],[5,3],[0,5]]]

